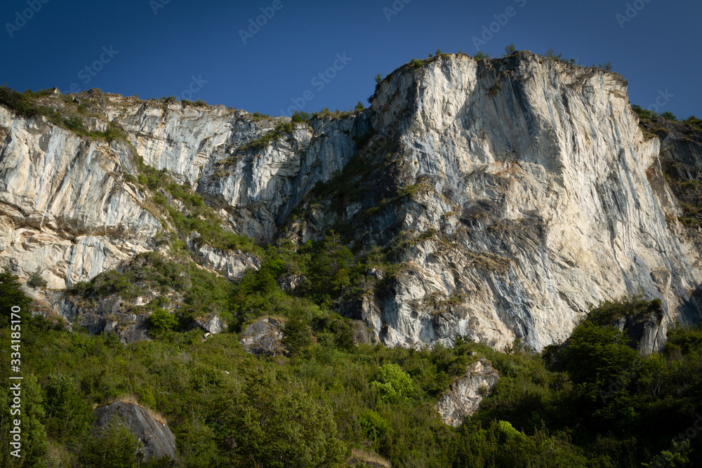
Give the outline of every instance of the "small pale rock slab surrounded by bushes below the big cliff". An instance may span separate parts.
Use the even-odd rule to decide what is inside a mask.
[[[444,423],[458,427],[465,417],[477,411],[480,401],[489,394],[500,378],[497,370],[484,358],[470,364],[461,377],[451,384],[451,389],[437,402],[435,408]]]

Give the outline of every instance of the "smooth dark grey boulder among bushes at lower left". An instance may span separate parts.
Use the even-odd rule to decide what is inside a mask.
[[[134,403],[115,401],[95,410],[94,427],[106,427],[113,416],[124,421],[124,425],[142,441],[145,460],[164,456],[176,458],[176,437],[166,424],[154,420],[150,413]]]

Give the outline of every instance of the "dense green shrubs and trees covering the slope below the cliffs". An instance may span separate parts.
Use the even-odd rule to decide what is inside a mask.
[[[201,342],[197,330],[170,331],[159,309],[157,339],[128,347],[110,336],[69,333],[41,316],[23,315],[27,413],[22,414],[27,419],[22,424],[32,442],[31,466],[49,464],[48,453],[53,465],[146,466],[134,456],[135,439],[118,421],[95,435],[89,430],[91,408],[122,395],[135,396],[167,418],[178,444],[176,466],[183,467],[339,466],[360,449],[393,466],[609,468],[656,466],[660,458],[694,467],[702,462],[698,438],[687,441],[683,435],[671,443],[694,427],[700,411],[702,328],[673,327],[661,354],[642,357],[610,325],[658,313],[659,302],[633,297],[593,309],[564,345],[543,354],[518,342],[503,353],[463,339],[452,348],[423,350],[355,345],[350,322],[331,312],[325,297],[334,297],[341,285],[354,283],[355,272],[382,258],[375,251],[353,260],[332,235],[298,250],[269,248],[261,269],[225,286],[237,320],[266,314],[288,318],[289,356],[247,354],[236,333]],[[178,281],[180,272],[192,274],[152,256],[140,261],[143,272],[127,268],[126,278],[150,282],[150,288]],[[277,286],[276,279],[290,272],[309,279],[299,295]],[[333,282],[329,278],[339,282],[325,285]],[[124,281],[112,286],[100,281],[91,286],[93,293],[127,288]],[[27,302],[11,275],[1,276],[0,288]],[[0,336],[8,340],[8,304],[2,307]],[[433,406],[477,359],[474,353],[489,359],[501,379],[479,411],[453,429]],[[0,374],[6,379],[8,369],[0,368]],[[9,397],[6,387],[0,390],[3,413]],[[0,420],[5,445],[6,424]],[[4,466],[13,466],[7,453],[0,457]]]

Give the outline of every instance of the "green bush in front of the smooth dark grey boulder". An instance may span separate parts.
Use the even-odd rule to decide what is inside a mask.
[[[138,467],[141,455],[140,441],[124,426],[119,417],[113,416],[98,434],[83,446],[81,462],[84,467],[131,468]]]

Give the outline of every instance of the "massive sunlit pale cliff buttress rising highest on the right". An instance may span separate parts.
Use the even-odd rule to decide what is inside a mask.
[[[670,189],[651,188],[661,146],[640,131],[627,84],[526,52],[386,77],[350,222],[404,268],[349,315],[386,345],[468,335],[534,349],[640,291],[663,301],[666,323],[697,321],[699,252],[668,224]]]

